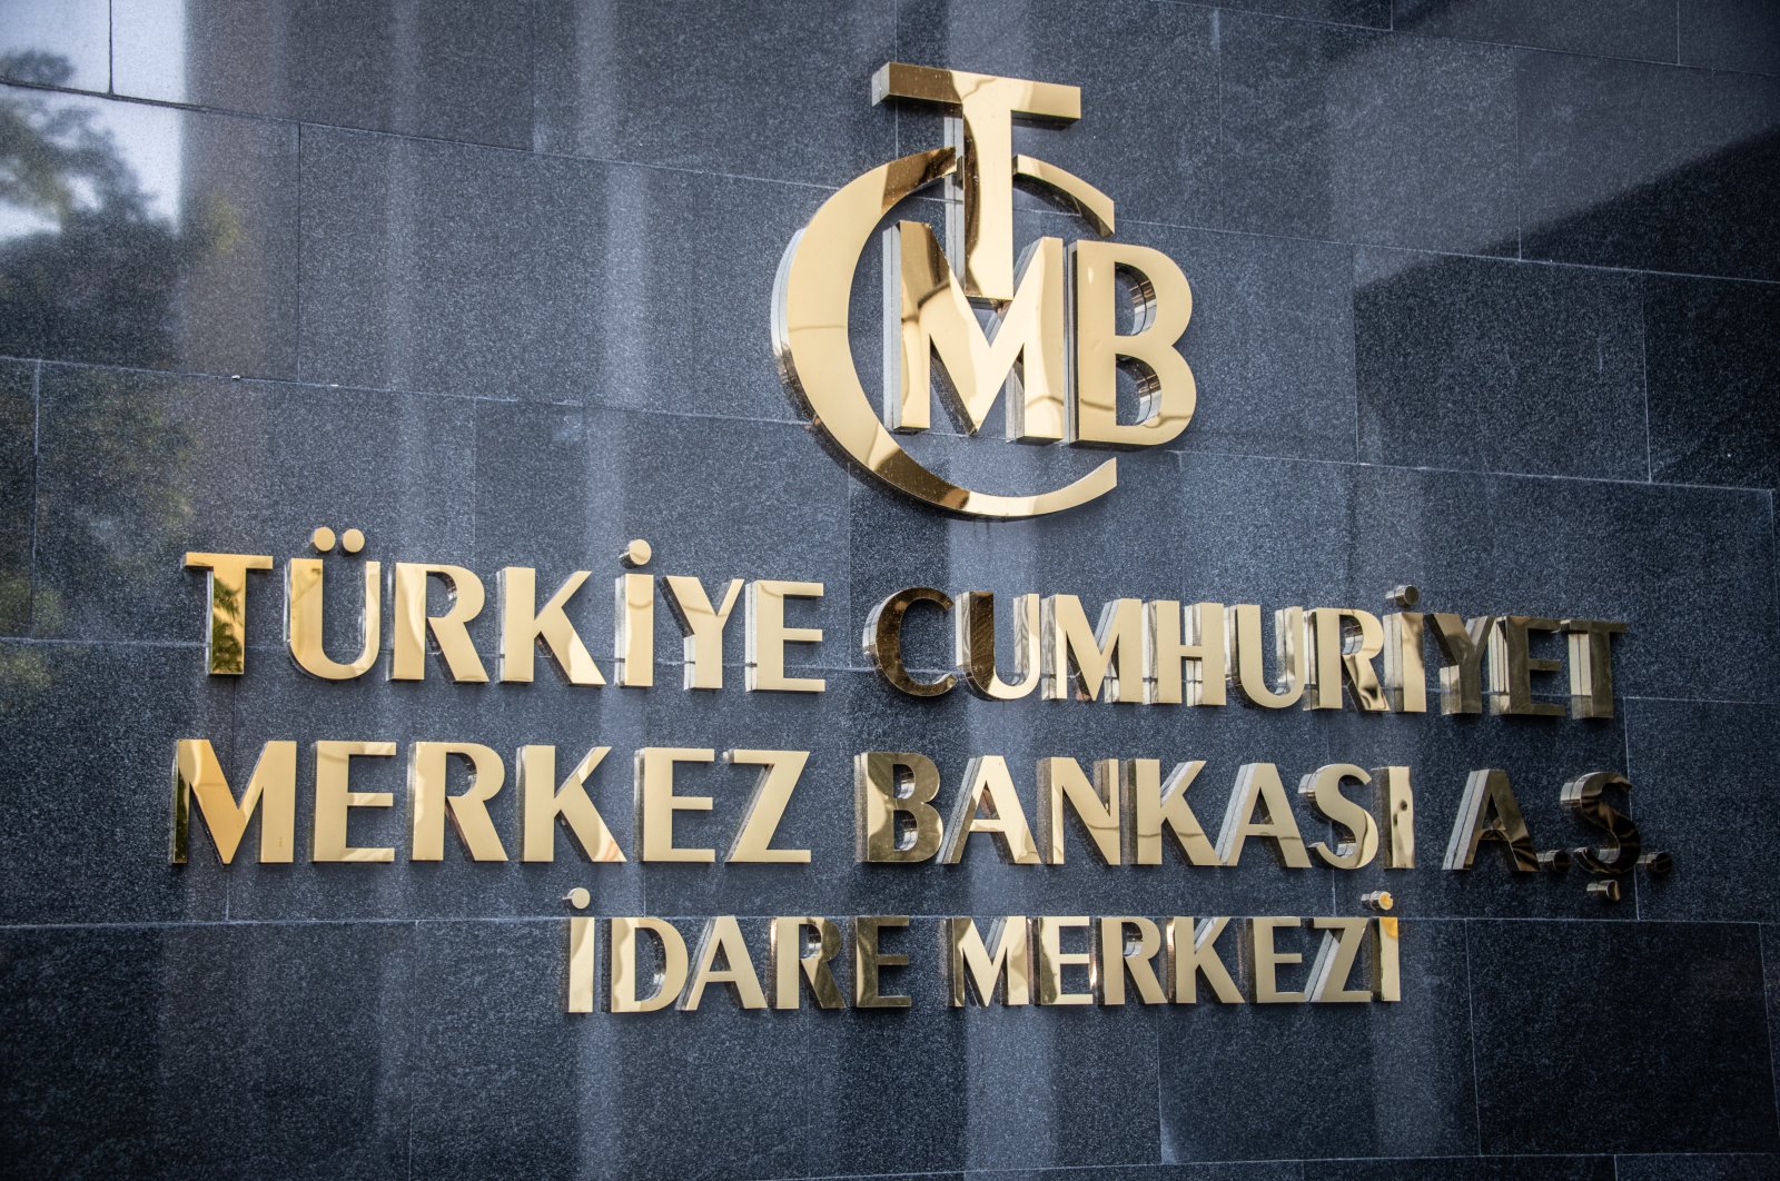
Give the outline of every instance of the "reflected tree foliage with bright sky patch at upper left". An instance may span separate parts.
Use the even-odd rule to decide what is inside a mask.
[[[61,59],[4,59],[11,76],[66,80]],[[20,356],[173,365],[176,277],[226,219],[180,233],[153,210],[98,100],[9,89],[0,100],[0,205],[27,229],[0,242],[0,345]],[[53,341],[55,347],[50,347]]]

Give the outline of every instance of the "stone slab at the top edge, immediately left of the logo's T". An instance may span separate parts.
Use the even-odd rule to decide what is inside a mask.
[[[895,155],[895,5],[545,0],[534,27],[539,151],[828,187]]]

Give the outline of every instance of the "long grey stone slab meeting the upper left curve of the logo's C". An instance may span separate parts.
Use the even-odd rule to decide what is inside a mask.
[[[303,139],[303,375],[789,420],[773,272],[803,187]]]

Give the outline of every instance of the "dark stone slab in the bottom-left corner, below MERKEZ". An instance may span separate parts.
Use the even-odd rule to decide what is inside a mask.
[[[409,944],[390,923],[0,932],[7,1058],[59,1065],[0,1081],[9,1169],[404,1170]]]

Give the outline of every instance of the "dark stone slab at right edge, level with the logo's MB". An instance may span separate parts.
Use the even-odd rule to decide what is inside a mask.
[[[1780,486],[1776,324],[1780,288],[1645,279],[1652,478]]]

